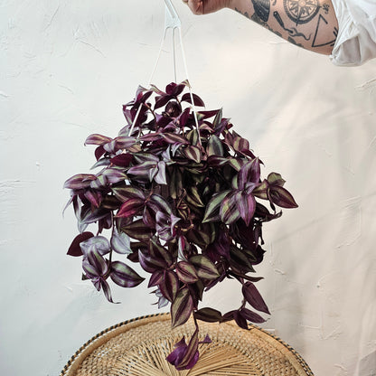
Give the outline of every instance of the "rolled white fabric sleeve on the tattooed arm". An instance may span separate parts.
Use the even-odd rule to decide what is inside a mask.
[[[338,35],[330,56],[335,65],[361,65],[376,57],[376,0],[332,0]]]

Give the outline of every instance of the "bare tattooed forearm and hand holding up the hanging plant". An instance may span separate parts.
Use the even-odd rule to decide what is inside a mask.
[[[331,54],[338,22],[331,0],[183,0],[193,14],[230,8],[288,42],[313,52]]]

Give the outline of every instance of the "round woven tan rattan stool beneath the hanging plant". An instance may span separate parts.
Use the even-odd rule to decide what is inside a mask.
[[[192,370],[176,371],[165,357],[183,335],[193,334],[193,321],[171,330],[170,315],[150,315],[114,325],[75,353],[61,376],[304,376],[313,375],[286,343],[257,326],[200,322],[200,360]]]

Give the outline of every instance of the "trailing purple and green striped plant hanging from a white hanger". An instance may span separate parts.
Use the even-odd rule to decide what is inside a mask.
[[[136,287],[146,277],[129,263],[139,263],[159,307],[171,305],[173,327],[193,315],[193,336],[167,357],[178,370],[198,360],[199,320],[235,320],[244,329],[265,321],[254,312],[269,314],[255,287],[260,278],[249,275],[263,258],[262,224],[280,217],[277,206],[297,206],[280,174],[261,178],[261,161],[221,109],[193,114],[192,101],[204,104],[184,93],[188,85],[139,87],[118,136],[86,140],[96,146],[98,172],[64,184],[80,231],[68,254],[82,258],[83,278],[113,302],[109,282]],[[93,223],[96,234],[87,230]],[[239,281],[240,306],[224,314],[199,307],[203,292],[225,278]]]

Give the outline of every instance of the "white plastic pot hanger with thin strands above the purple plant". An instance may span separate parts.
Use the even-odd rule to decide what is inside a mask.
[[[162,53],[163,48],[164,48],[164,42],[165,42],[165,38],[166,38],[168,29],[172,29],[173,60],[174,60],[174,82],[176,82],[176,76],[177,76],[177,74],[176,74],[176,52],[175,52],[176,47],[175,47],[175,38],[174,37],[175,37],[175,30],[178,29],[180,50],[182,52],[182,60],[183,60],[183,67],[184,67],[184,71],[185,71],[185,78],[188,82],[188,89],[189,89],[191,102],[192,102],[191,106],[192,106],[192,109],[193,109],[194,122],[195,122],[195,125],[196,125],[197,133],[199,135],[198,140],[199,140],[199,143],[201,144],[199,122],[198,122],[198,119],[197,119],[196,108],[194,106],[193,91],[192,91],[191,83],[190,83],[190,80],[189,80],[187,62],[186,62],[186,59],[185,59],[185,52],[184,52],[184,47],[183,47],[182,27],[180,25],[180,19],[179,19],[179,16],[177,15],[176,11],[174,10],[174,6],[172,5],[171,0],[164,0],[164,3],[165,3],[165,7],[166,7],[165,23],[164,23],[164,36],[163,36],[161,44],[159,46],[159,51],[158,51],[158,54],[157,54],[157,57],[156,57],[154,69],[152,71],[152,74],[150,75],[149,81],[147,83],[147,87],[150,88],[153,77],[155,75],[155,71],[158,67],[159,59],[161,57],[161,53]],[[133,120],[132,127],[129,130],[129,135],[131,135],[132,132],[133,132],[133,128],[136,124],[136,121],[137,121],[137,118],[140,114],[141,108],[142,108],[142,106],[139,106],[139,108],[137,109],[136,117]]]

